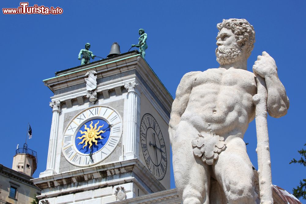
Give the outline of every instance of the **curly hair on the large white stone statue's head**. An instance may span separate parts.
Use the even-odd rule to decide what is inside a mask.
[[[255,43],[255,31],[247,20],[237,18],[223,19],[222,23],[217,24],[217,28],[219,31],[222,28],[231,29],[235,35],[237,44],[239,46],[246,45],[248,47],[246,50],[247,57],[251,55]]]

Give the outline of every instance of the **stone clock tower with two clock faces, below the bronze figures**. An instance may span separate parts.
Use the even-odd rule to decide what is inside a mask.
[[[170,188],[173,99],[138,51],[56,72],[40,202],[110,203]]]

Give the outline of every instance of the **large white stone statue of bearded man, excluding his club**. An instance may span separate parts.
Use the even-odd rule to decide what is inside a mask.
[[[220,66],[185,74],[172,105],[175,184],[184,204],[254,204],[254,175],[243,136],[255,117],[255,74],[265,78],[270,116],[285,115],[289,99],[268,53],[258,56],[254,73],[247,71],[255,43],[247,20],[223,20],[217,28]]]

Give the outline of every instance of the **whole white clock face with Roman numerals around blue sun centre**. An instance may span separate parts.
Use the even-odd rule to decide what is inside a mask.
[[[114,151],[121,134],[119,114],[108,106],[93,106],[78,113],[67,125],[62,152],[73,165],[95,165]]]

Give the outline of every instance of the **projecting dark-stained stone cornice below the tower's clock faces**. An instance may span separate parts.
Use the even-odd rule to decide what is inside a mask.
[[[71,183],[84,182],[86,180],[97,179],[101,177],[113,176],[115,174],[121,174],[126,172],[134,172],[138,178],[144,182],[153,192],[165,190],[162,184],[157,180],[149,170],[138,159],[125,160],[121,162],[108,163],[98,166],[93,166],[84,169],[77,169],[74,171],[63,172],[52,176],[46,176],[42,178],[32,179],[34,184],[40,187],[42,190],[50,187],[62,186]],[[133,176],[125,177],[122,179],[116,179],[112,181],[105,181],[88,186],[88,189],[102,186],[109,186],[114,184],[126,183],[136,181]],[[69,193],[71,190],[67,190]],[[71,192],[70,192],[71,193]],[[54,195],[53,195],[54,194]],[[55,191],[52,195],[42,194],[42,198],[45,196],[65,194],[65,191]]]

